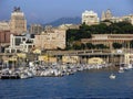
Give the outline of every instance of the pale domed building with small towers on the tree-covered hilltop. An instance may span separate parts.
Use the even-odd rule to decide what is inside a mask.
[[[112,18],[112,12],[110,9],[108,9],[105,12],[102,12],[101,21],[111,20]]]

